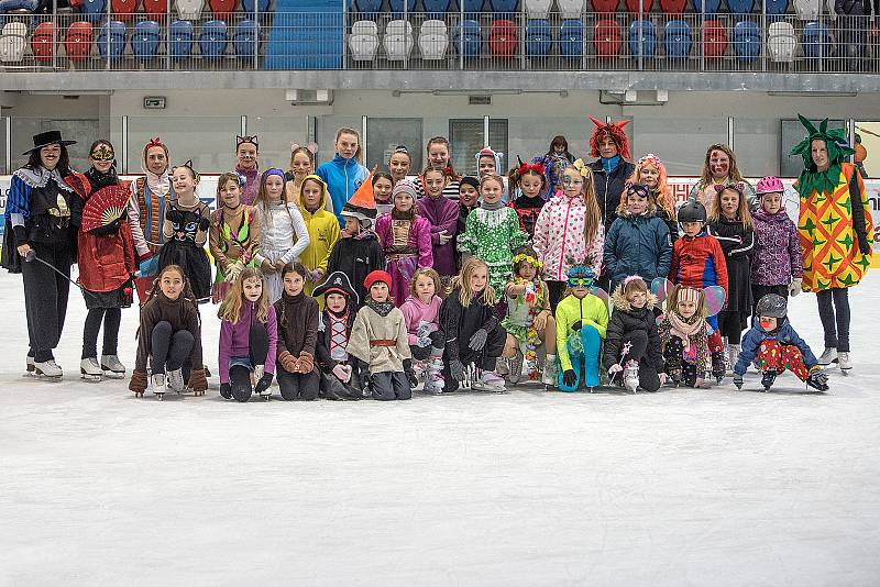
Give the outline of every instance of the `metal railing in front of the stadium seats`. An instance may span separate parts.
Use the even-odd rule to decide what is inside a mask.
[[[880,34],[869,16],[666,14],[656,9],[641,14],[558,10],[536,14],[520,9],[212,15],[207,8],[191,16],[182,18],[177,10],[160,15],[3,14],[0,67],[26,71],[880,70]]]

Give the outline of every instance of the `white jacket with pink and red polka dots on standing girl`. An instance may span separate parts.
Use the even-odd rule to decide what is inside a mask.
[[[569,198],[558,191],[538,214],[532,245],[538,261],[543,264],[541,276],[546,280],[565,281],[572,265],[594,259],[593,270],[600,275],[605,244],[603,225],[598,225],[593,242],[584,241],[586,207],[581,198]]]

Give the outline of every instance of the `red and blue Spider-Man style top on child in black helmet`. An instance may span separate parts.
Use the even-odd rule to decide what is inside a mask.
[[[681,236],[672,247],[669,280],[698,288],[722,286],[727,294],[727,263],[722,245],[705,231]]]

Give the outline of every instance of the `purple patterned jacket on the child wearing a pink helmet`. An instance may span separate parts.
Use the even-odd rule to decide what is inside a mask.
[[[798,228],[781,209],[776,214],[758,210],[755,221],[755,256],[751,259],[751,283],[759,286],[787,286],[793,277],[804,275]]]

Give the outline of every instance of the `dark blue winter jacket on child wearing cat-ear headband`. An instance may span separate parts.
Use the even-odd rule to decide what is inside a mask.
[[[612,290],[629,275],[650,284],[666,277],[672,263],[672,243],[667,223],[652,212],[618,217],[605,235],[605,273]]]

